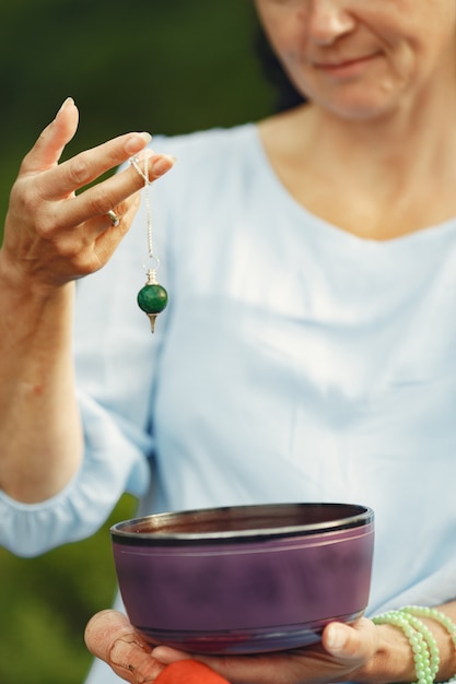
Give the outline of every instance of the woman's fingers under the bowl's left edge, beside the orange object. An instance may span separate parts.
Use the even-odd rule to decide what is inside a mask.
[[[114,672],[132,684],[153,682],[164,665],[151,657],[151,649],[117,611],[102,611],[85,628],[89,650],[107,662]]]

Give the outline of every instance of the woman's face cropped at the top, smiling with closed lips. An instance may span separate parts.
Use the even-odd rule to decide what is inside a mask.
[[[255,2],[295,87],[340,116],[367,119],[456,83],[455,0]]]

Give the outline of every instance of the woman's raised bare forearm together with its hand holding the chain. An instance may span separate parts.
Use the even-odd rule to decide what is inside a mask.
[[[68,98],[24,157],[0,251],[0,488],[24,503],[59,492],[81,462],[74,281],[108,262],[139,207],[144,181],[135,169],[104,174],[151,138],[126,133],[60,163],[78,119]],[[173,164],[152,155],[150,181]]]

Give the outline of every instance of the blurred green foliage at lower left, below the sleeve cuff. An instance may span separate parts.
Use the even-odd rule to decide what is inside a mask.
[[[92,662],[83,641],[90,617],[116,590],[109,526],[130,518],[125,495],[91,539],[37,558],[0,547],[0,682],[81,684]]]

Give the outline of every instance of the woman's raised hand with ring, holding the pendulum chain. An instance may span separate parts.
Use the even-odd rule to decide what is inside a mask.
[[[143,180],[131,167],[91,184],[141,154],[150,134],[126,133],[59,164],[78,121],[78,108],[68,98],[25,156],[12,188],[1,259],[17,283],[55,287],[98,270],[139,207]],[[173,163],[167,155],[152,154],[150,179]],[[113,225],[109,211],[119,217],[118,225]]]

